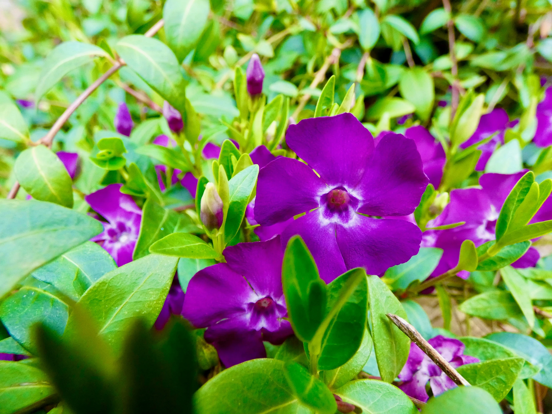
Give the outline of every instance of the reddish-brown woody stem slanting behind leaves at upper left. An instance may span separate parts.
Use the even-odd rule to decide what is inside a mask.
[[[155,35],[159,29],[163,27],[163,19],[159,20],[156,24],[151,26],[151,28],[146,31],[144,36],[147,38],[151,38],[153,35]],[[113,75],[116,71],[119,70],[119,68],[126,65],[121,60],[118,60],[114,63],[112,67],[109,68],[107,72],[105,72],[102,76],[100,76],[97,81],[91,84],[88,88],[84,89],[84,92],[79,95],[79,97],[73,102],[71,105],[67,107],[67,109],[61,114],[61,116],[55,121],[54,125],[52,125],[52,128],[47,132],[45,136],[43,136],[36,144],[44,144],[48,148],[52,147],[52,142],[54,142],[54,137],[56,136],[57,132],[60,131],[62,126],[67,122],[67,120],[70,118],[70,116],[77,110],[79,105],[81,105],[86,98],[88,98],[92,92],[94,92],[102,83],[104,83],[107,78]],[[12,189],[9,190],[8,193],[8,199],[13,199],[17,196],[17,193],[19,191],[19,183],[16,181],[13,183]]]

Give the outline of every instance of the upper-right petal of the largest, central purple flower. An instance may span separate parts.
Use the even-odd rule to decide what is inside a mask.
[[[420,203],[428,182],[415,142],[400,134],[387,134],[376,146],[355,189],[362,203],[358,212],[406,216]]]

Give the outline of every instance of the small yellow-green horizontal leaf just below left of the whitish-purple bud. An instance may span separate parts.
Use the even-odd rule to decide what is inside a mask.
[[[150,246],[151,253],[192,259],[217,259],[220,254],[198,236],[189,233],[172,233]]]

